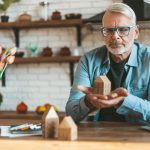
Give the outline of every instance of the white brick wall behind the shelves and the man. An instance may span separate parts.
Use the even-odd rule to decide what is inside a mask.
[[[33,20],[41,17],[40,0],[21,0],[13,4],[8,15],[10,21],[17,20],[24,11],[32,15]],[[121,0],[50,0],[49,16],[55,10],[64,15],[67,13],[82,13],[83,18],[91,17],[102,12],[113,2]],[[142,31],[139,40],[149,43],[149,30]],[[76,32],[74,28],[50,28],[21,30],[20,48],[25,50],[27,45],[38,43],[39,51],[49,46],[56,54],[60,47],[69,46],[71,50],[77,47]],[[11,47],[15,45],[12,30],[0,30],[0,44]],[[84,51],[103,44],[102,38],[97,32],[82,29],[82,47]],[[26,50],[25,50],[26,52]],[[65,110],[65,104],[69,96],[70,80],[68,64],[39,63],[11,65],[6,70],[6,87],[0,87],[4,101],[1,110],[15,110],[16,105],[24,101],[29,110],[34,111],[37,105],[46,102],[56,105],[59,110]]]

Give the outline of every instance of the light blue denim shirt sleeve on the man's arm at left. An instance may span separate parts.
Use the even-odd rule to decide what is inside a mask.
[[[70,97],[66,104],[66,114],[70,115],[75,122],[80,122],[90,112],[84,102],[85,94],[76,89],[77,85],[91,87],[88,75],[88,63],[86,61],[86,57],[82,57],[77,66],[74,83],[70,91]]]

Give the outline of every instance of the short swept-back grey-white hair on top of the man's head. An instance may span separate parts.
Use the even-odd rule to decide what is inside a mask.
[[[136,24],[136,15],[135,12],[133,11],[133,9],[123,3],[113,3],[107,10],[110,12],[119,12],[124,14],[125,16],[127,16],[128,18],[130,18],[133,21],[133,24]]]

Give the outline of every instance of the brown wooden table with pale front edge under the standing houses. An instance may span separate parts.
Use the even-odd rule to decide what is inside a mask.
[[[39,122],[39,119],[28,122]],[[1,125],[25,123],[25,119],[0,119]],[[0,138],[0,150],[149,150],[150,132],[139,125],[115,122],[84,122],[77,141],[43,139],[41,136]]]

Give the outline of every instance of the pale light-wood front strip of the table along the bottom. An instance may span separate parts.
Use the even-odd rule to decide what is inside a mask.
[[[2,150],[149,150],[149,143],[0,140]]]

